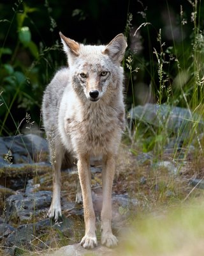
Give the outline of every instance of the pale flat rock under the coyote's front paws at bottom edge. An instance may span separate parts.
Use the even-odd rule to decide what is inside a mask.
[[[92,256],[113,256],[114,250],[107,248],[105,246],[97,246],[92,250],[84,249],[80,244],[72,244],[68,246],[63,246],[59,250],[48,253],[46,256],[85,256],[85,255],[92,255]],[[115,254],[116,255],[116,254]]]

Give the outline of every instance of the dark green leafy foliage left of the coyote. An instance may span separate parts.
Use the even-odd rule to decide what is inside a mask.
[[[51,68],[52,63],[50,52],[58,50],[59,45],[56,43],[47,47],[43,43],[36,45],[33,41],[30,15],[38,12],[38,8],[30,8],[24,1],[18,0],[11,20],[1,20],[8,22],[9,26],[4,29],[6,36],[0,48],[0,99],[3,102],[0,108],[0,135],[18,130],[17,120],[20,122],[27,111],[40,124],[41,95],[48,81],[48,67]],[[17,39],[9,44],[11,27],[15,28]]]

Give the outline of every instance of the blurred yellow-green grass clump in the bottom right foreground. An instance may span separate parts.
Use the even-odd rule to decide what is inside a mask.
[[[138,216],[122,237],[119,255],[202,255],[203,206],[191,202],[168,213],[159,211]]]

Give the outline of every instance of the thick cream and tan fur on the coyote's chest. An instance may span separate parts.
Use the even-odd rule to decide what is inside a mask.
[[[91,103],[69,116],[64,117],[65,145],[70,140],[74,152],[90,156],[116,154],[122,127],[115,109],[103,106],[103,102]]]

